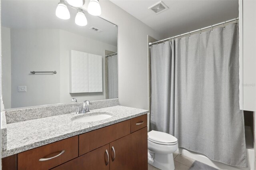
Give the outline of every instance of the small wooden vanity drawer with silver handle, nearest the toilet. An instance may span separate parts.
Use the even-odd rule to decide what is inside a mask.
[[[148,114],[131,119],[131,133],[147,126]]]

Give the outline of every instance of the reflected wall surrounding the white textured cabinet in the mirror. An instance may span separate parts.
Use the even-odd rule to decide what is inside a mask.
[[[102,56],[103,92],[69,93],[70,49]],[[78,101],[105,99],[105,57],[104,50],[117,51],[117,47],[60,30],[60,103],[69,103],[74,97]]]

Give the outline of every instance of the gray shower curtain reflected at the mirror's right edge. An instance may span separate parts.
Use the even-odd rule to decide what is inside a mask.
[[[117,55],[108,57],[108,99],[118,98]]]

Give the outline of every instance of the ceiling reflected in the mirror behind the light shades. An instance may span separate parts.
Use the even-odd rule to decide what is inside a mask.
[[[62,20],[55,15],[60,0],[2,0],[1,24],[8,28],[60,29],[87,38],[117,46],[117,27],[100,17],[84,11],[88,25],[75,24],[76,10],[68,7],[70,19]],[[95,32],[92,26],[103,30]]]

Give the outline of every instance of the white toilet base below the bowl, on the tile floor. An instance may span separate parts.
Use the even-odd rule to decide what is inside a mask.
[[[148,162],[150,164],[150,162]],[[154,162],[150,164],[160,170],[174,170],[173,154],[154,153]]]

